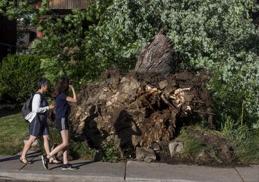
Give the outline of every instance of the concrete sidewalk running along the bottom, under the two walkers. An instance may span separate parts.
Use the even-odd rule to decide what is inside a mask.
[[[78,170],[61,170],[50,164],[46,170],[38,153],[30,153],[32,164],[19,162],[19,156],[0,155],[0,179],[11,181],[173,181],[173,182],[259,182],[259,165],[250,167],[204,167],[128,161],[106,163],[70,161]]]

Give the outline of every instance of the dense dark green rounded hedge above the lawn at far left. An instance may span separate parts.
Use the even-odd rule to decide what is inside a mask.
[[[8,55],[0,64],[0,95],[3,100],[23,102],[37,90],[42,77],[41,55]]]

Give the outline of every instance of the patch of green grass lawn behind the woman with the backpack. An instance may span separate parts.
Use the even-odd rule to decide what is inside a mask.
[[[21,151],[28,125],[21,116],[21,108],[0,109],[0,154],[15,155]]]

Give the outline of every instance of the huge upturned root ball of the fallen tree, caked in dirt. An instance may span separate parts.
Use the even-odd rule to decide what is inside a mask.
[[[98,149],[108,140],[119,138],[125,158],[134,156],[135,147],[148,147],[155,151],[158,161],[182,163],[185,159],[170,157],[168,145],[184,123],[204,117],[213,127],[213,112],[207,104],[209,91],[204,87],[208,76],[203,72],[165,76],[138,72],[121,75],[111,70],[102,75],[102,80],[82,88],[79,102],[70,108],[74,139],[90,147]],[[198,131],[193,131],[193,137],[204,143],[214,142],[222,161],[233,161],[226,143]]]

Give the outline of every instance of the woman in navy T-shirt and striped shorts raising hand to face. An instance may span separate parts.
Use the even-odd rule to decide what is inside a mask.
[[[68,96],[68,89],[71,89],[73,92],[73,98]],[[73,84],[70,82],[67,76],[61,77],[52,93],[52,98],[55,99],[55,109],[56,109],[56,120],[57,129],[61,133],[62,143],[59,144],[52,152],[48,153],[47,156],[41,156],[42,163],[46,170],[48,170],[48,161],[49,159],[57,154],[57,152],[63,150],[63,165],[62,170],[76,170],[77,167],[73,167],[68,163],[68,149],[70,143],[69,135],[69,125],[68,125],[68,115],[69,115],[69,106],[68,102],[77,102],[77,95]]]

